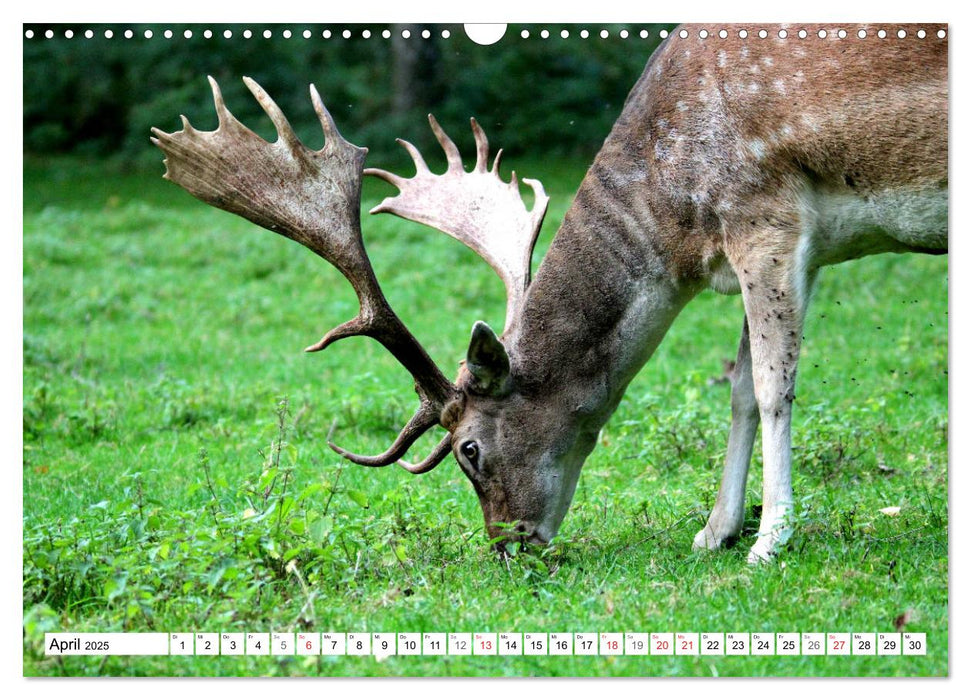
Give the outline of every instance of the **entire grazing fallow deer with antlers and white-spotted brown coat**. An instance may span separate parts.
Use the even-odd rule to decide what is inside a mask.
[[[448,168],[432,173],[400,141],[416,174],[364,169],[366,149],[344,140],[311,86],[326,144],[303,146],[254,81],[276,126],[268,143],[237,121],[210,79],[219,126],[153,130],[165,177],[204,202],[291,238],[350,281],[360,313],[308,351],[366,335],[413,375],[418,410],[375,456],[331,443],[367,466],[421,474],[455,455],[491,537],[545,543],[557,532],[600,429],[679,311],[705,288],[741,293],[732,372],[731,432],[721,487],[694,546],[717,548],[742,527],[745,482],[759,425],[763,506],[750,561],[770,558],[790,532],[790,421],[803,320],[817,271],[881,252],[947,251],[947,40],[941,27],[878,39],[687,38],[655,52],[580,185],[535,280],[530,258],[548,199],[524,204],[513,173],[491,167],[472,120],[475,166],[433,117]],[[864,29],[869,39],[859,38]],[[503,333],[477,322],[455,382],[395,315],[364,250],[364,175],[398,194],[371,213],[427,224],[462,241],[502,278]],[[403,461],[433,426],[446,437]],[[500,523],[515,523],[512,531]]]

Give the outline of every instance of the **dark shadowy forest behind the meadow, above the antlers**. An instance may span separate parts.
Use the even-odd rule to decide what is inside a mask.
[[[664,25],[670,28],[670,25]],[[27,156],[76,154],[122,165],[157,163],[149,130],[215,127],[205,76],[226,103],[258,133],[273,130],[249,95],[249,75],[283,108],[312,147],[322,142],[307,93],[314,83],[338,127],[372,154],[403,158],[400,136],[432,147],[429,112],[460,147],[470,147],[468,118],[508,155],[591,157],[610,130],[647,59],[660,43],[660,25],[510,25],[498,44],[480,46],[460,25],[27,25],[24,39],[24,151]],[[213,31],[203,37],[204,29]],[[293,36],[285,39],[284,29]],[[411,37],[403,39],[407,28]],[[530,38],[520,36],[528,28]],[[562,29],[570,37],[560,37]],[[66,30],[73,37],[65,38]],[[112,29],[113,37],[104,37]],[[126,29],[134,37],[126,39]],[[144,38],[146,29],[153,37]],[[170,29],[172,38],[163,32]],[[186,29],[193,32],[183,37]],[[223,32],[230,29],[231,39]],[[252,37],[242,36],[244,29]],[[265,29],[273,36],[263,37]],[[325,29],[331,38],[322,38]],[[352,36],[345,39],[344,29]],[[369,29],[364,39],[361,31]],[[392,38],[384,39],[384,29]],[[428,29],[431,38],[421,32]],[[442,38],[443,29],[450,36]],[[541,29],[550,37],[540,38]],[[607,29],[608,38],[600,31]],[[620,37],[626,29],[627,38]],[[45,32],[53,31],[53,38]],[[304,30],[312,37],[303,38]],[[647,38],[641,37],[648,31]],[[373,162],[373,161],[372,161]]]

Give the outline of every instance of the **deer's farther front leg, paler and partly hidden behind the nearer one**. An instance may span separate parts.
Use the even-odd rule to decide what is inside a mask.
[[[728,435],[728,454],[721,488],[708,522],[695,535],[695,549],[717,549],[730,544],[742,530],[745,514],[745,481],[752,460],[752,446],[759,428],[759,406],[752,383],[752,353],[749,348],[748,319],[742,323],[738,357],[731,373],[732,429]]]

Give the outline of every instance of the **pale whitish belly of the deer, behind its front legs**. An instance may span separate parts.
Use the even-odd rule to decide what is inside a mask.
[[[886,252],[947,252],[947,190],[814,192],[800,241],[809,267]]]

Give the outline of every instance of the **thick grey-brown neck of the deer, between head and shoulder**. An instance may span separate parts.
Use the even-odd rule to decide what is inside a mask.
[[[666,252],[651,175],[608,139],[506,336],[526,392],[558,393],[599,430],[671,322],[703,287]],[[688,265],[688,267],[691,267]]]

